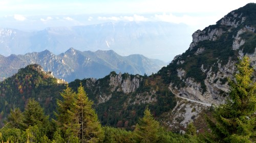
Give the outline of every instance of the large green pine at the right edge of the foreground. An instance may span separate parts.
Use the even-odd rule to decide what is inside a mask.
[[[251,142],[256,129],[256,84],[251,80],[253,68],[245,56],[237,65],[236,80],[229,80],[230,100],[217,106],[214,111],[216,122],[207,118],[211,142]]]

